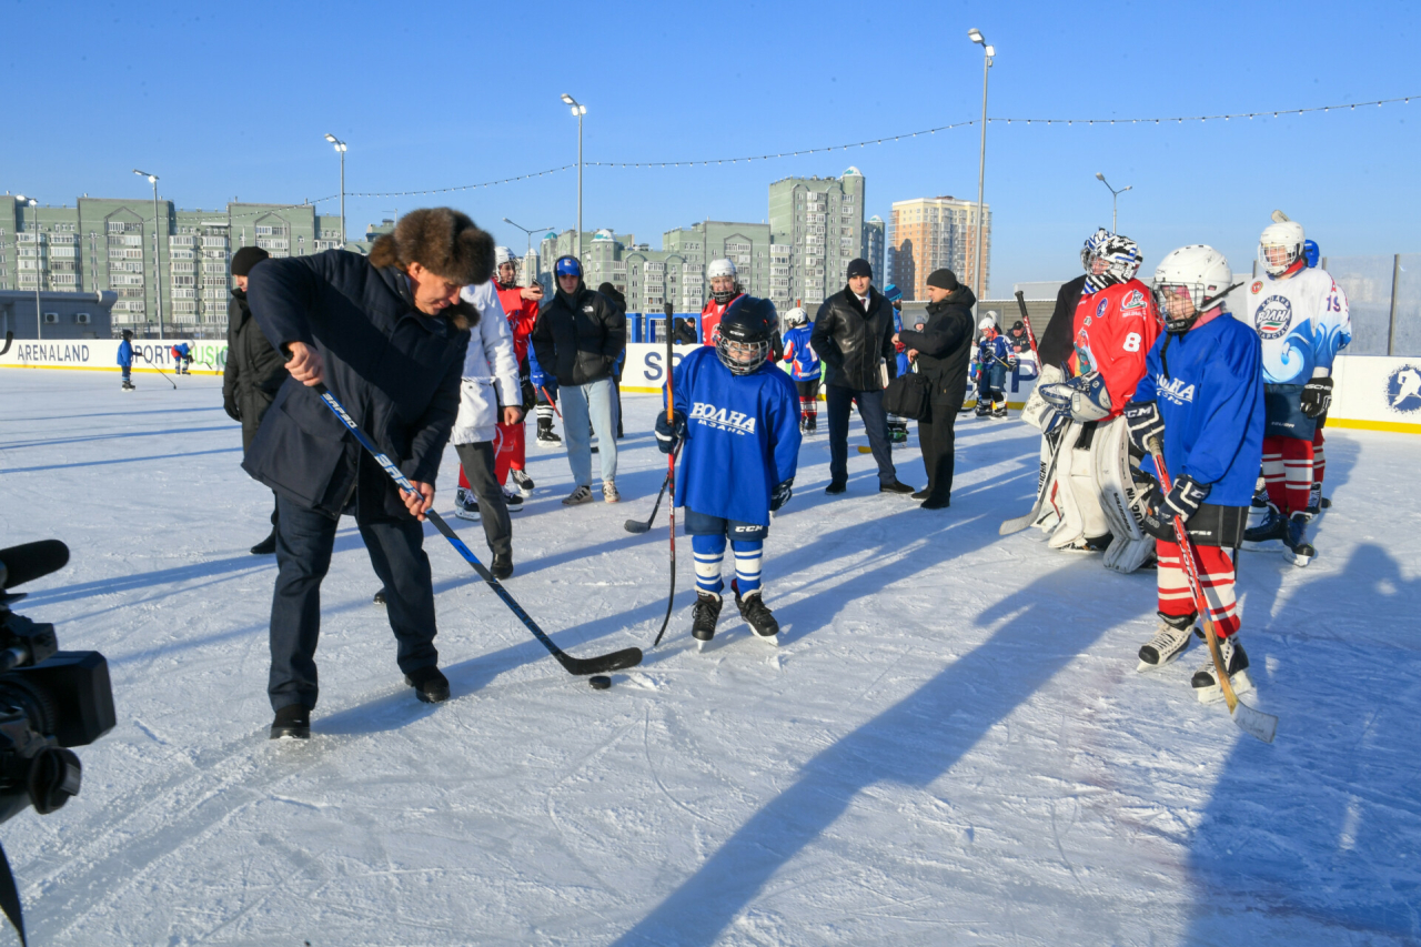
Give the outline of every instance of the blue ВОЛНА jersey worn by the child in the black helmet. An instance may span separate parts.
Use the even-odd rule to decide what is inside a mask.
[[[676,365],[672,390],[686,417],[676,506],[769,526],[770,493],[799,464],[794,382],[769,361],[730,374],[715,348],[701,347]]]

